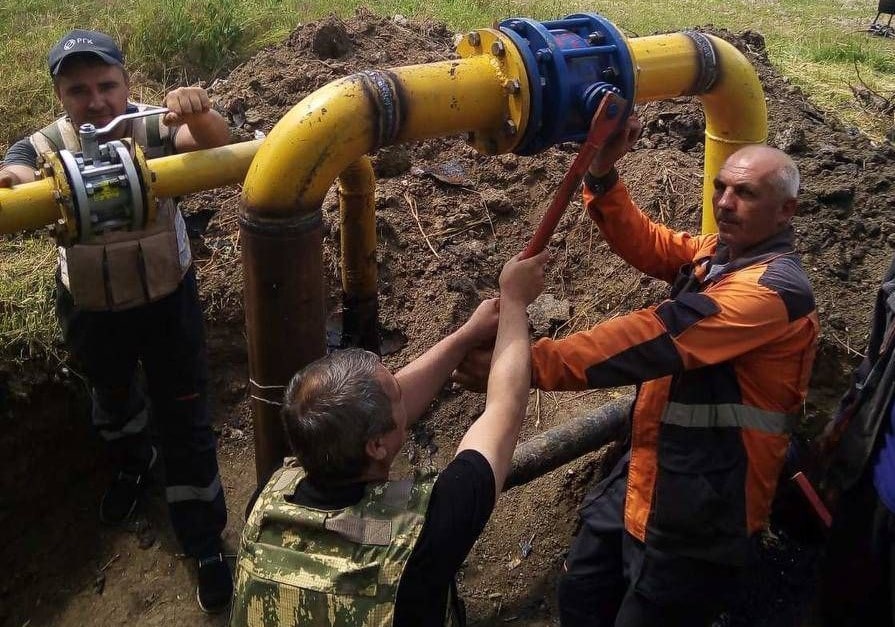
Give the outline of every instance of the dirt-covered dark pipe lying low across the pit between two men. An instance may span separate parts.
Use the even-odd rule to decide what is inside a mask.
[[[513,468],[503,489],[526,484],[625,437],[633,401],[633,396],[615,399],[520,444],[513,453]]]

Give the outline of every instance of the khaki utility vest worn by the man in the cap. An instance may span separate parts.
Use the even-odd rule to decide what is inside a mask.
[[[146,107],[137,105],[139,110]],[[153,159],[173,153],[171,129],[161,115],[130,121],[134,141]],[[29,138],[37,153],[81,150],[77,130],[62,117]],[[156,218],[140,231],[113,231],[87,244],[59,247],[62,282],[75,305],[91,311],[117,311],[145,305],[171,294],[189,269],[183,218],[170,198],[158,200]],[[184,250],[185,249],[185,250]]]

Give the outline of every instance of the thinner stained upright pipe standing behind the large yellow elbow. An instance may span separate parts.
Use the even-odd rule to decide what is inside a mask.
[[[342,345],[379,353],[376,292],[376,179],[367,156],[339,175],[342,248]]]

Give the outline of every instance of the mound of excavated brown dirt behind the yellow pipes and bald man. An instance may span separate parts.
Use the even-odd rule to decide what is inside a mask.
[[[796,229],[825,341],[837,347],[834,352],[860,349],[868,295],[895,247],[895,218],[886,211],[895,200],[895,149],[874,146],[817,109],[774,69],[758,33],[714,34],[736,45],[758,69],[770,116],[769,143],[789,152],[802,171]],[[282,45],[256,55],[217,83],[213,97],[246,135],[268,132],[295,103],[323,85],[365,69],[452,58],[452,39],[443,25],[400,16],[389,19],[361,11],[347,22],[331,17],[300,27]],[[698,231],[704,150],[700,104],[691,98],[652,102],[640,108],[640,115],[644,135],[623,162],[623,176],[651,215],[675,228]],[[456,321],[445,314],[452,307],[433,302],[429,293],[468,305],[477,297],[472,286],[479,292],[492,288],[495,268],[524,243],[576,150],[564,145],[534,157],[489,158],[460,139],[439,139],[380,151],[374,161],[386,322],[408,329],[413,343],[422,347],[443,328],[428,324],[418,307],[432,309],[445,322]],[[455,172],[453,177],[438,176],[446,168]],[[419,226],[435,253],[411,216],[411,201],[417,203]],[[333,269],[338,229],[334,203],[330,196],[324,207]],[[226,220],[235,208],[235,202],[228,203],[229,211],[218,220]],[[215,226],[206,237],[212,246],[227,235],[215,232]],[[662,292],[640,290],[640,277],[606,256],[599,235],[580,212],[569,212],[555,241],[559,255],[553,278],[564,297],[575,299],[576,323],[581,324],[573,326],[593,323],[619,305],[653,302]],[[228,268],[225,274],[229,285],[232,272]],[[464,293],[470,298],[451,296]],[[599,313],[585,307],[593,304],[594,294],[599,294]],[[392,302],[395,295],[401,302]],[[581,315],[585,308],[589,314]],[[416,333],[424,329],[429,332]]]

